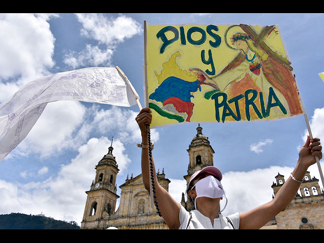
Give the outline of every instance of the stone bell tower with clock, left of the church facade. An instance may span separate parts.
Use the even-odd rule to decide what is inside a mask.
[[[88,194],[87,202],[81,229],[104,228],[103,218],[109,217],[115,212],[117,185],[116,176],[119,171],[115,157],[112,155],[112,140],[108,148],[108,153],[103,156],[95,167],[96,176],[92,181]]]

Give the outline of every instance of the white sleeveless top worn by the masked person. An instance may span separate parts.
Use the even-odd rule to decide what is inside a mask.
[[[185,210],[185,208],[180,205],[180,213],[179,213],[179,220],[180,220],[180,227],[179,229],[186,229],[190,213],[191,213],[191,220],[187,229],[233,229],[232,225],[228,222],[226,217],[224,217],[221,213],[219,217],[214,219],[214,227],[210,218],[206,217],[205,215],[201,214],[198,210],[192,210],[190,213]],[[227,216],[230,221],[232,222],[234,229],[238,229],[239,227],[239,213],[235,213],[232,215]]]

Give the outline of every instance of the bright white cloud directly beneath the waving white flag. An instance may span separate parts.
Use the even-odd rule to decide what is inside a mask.
[[[79,142],[85,140],[73,138],[82,136],[82,133],[74,134],[74,132],[77,129],[84,129],[82,123],[85,114],[86,107],[77,101],[48,103],[26,138],[11,152],[12,155],[33,153],[47,157],[64,149],[80,146]]]

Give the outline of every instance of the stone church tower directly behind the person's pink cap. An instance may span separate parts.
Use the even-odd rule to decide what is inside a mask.
[[[189,149],[189,165],[188,165],[188,174],[184,176],[184,179],[187,181],[187,186],[190,180],[191,175],[195,171],[199,171],[207,166],[214,166],[213,154],[215,153],[214,149],[210,145],[208,137],[203,134],[203,128],[196,128],[197,134],[192,139]],[[187,196],[187,203],[184,200],[184,193],[182,193],[181,205],[187,210],[191,211],[194,209],[193,202],[189,196]]]

